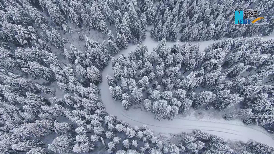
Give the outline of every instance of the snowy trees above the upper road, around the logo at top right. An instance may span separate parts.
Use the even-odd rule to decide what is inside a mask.
[[[235,8],[254,6],[252,2],[161,0],[156,6],[154,27],[150,34],[156,41],[166,38],[173,42],[176,42],[178,32],[182,33],[181,41],[250,37],[257,32],[269,35],[273,32],[273,5],[272,2],[266,1],[255,5],[259,9],[258,17],[265,16],[267,20],[258,21],[256,24],[237,25],[233,24]]]

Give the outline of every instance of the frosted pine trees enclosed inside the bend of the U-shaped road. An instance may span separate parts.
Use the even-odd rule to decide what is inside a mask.
[[[246,124],[273,124],[273,41],[225,39],[203,52],[199,45],[176,43],[166,47],[165,39],[151,53],[137,45],[128,59],[112,61],[113,76],[107,76],[115,100],[125,109],[142,104],[155,118],[172,119],[193,108],[226,110],[235,104],[242,109],[225,115],[241,117]]]

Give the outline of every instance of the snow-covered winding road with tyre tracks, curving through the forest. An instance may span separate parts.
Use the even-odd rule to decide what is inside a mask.
[[[263,37],[263,40],[274,38],[274,35]],[[202,41],[191,42],[189,44],[200,44],[200,51],[204,50],[209,44],[216,42]],[[172,46],[175,42],[166,42],[166,46]],[[158,44],[151,40],[150,34],[147,33],[147,39],[142,43],[146,44],[148,51],[151,52]],[[179,42],[183,44],[183,42]],[[126,50],[122,50],[114,58],[118,58],[121,54],[126,57],[130,51],[134,51],[136,45],[130,44]],[[192,132],[194,129],[201,129],[209,134],[214,134],[233,141],[248,141],[253,139],[255,141],[270,145],[274,147],[274,137],[259,126],[246,126],[239,120],[226,121],[222,118],[219,119],[198,119],[195,116],[182,117],[182,115],[176,116],[173,120],[155,120],[154,115],[150,112],[146,112],[140,109],[129,109],[126,111],[121,102],[114,101],[110,95],[108,84],[106,81],[106,75],[109,74],[113,77],[113,71],[111,64],[109,64],[102,72],[102,83],[99,85],[101,90],[101,98],[106,106],[108,114],[117,116],[118,119],[128,122],[131,126],[142,126],[146,124],[148,128],[152,129],[156,133],[176,134],[180,132]]]

